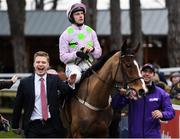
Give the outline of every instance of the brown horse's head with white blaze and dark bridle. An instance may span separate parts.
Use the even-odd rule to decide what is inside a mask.
[[[132,49],[125,41],[121,47],[121,72],[123,76],[124,87],[126,89],[133,89],[136,91],[138,98],[147,93],[147,88],[144,79],[141,75],[139,65],[135,60],[135,53],[139,49],[139,44]]]

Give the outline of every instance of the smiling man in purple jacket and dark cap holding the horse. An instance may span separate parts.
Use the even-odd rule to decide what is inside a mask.
[[[169,94],[152,81],[155,74],[153,65],[145,64],[141,72],[149,90],[146,96],[133,99],[133,91],[128,98],[119,93],[112,98],[112,107],[118,109],[129,104],[128,136],[130,138],[160,138],[160,120],[173,119],[175,111]]]

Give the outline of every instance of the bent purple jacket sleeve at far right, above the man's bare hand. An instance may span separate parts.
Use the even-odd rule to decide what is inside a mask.
[[[170,97],[168,94],[165,94],[163,96],[162,114],[163,114],[163,118],[161,120],[163,121],[171,120],[175,116],[175,111],[172,107],[172,104],[170,102]]]

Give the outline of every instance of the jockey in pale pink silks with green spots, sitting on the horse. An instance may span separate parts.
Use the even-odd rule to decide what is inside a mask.
[[[73,4],[67,10],[71,26],[59,38],[60,60],[66,64],[65,74],[68,79],[76,76],[75,83],[80,81],[82,72],[102,54],[96,32],[84,24],[85,14],[84,4]]]

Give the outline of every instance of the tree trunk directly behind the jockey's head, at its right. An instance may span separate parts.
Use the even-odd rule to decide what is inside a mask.
[[[85,22],[87,25],[96,30],[97,23],[97,0],[82,0],[82,2],[86,5],[87,13]]]

